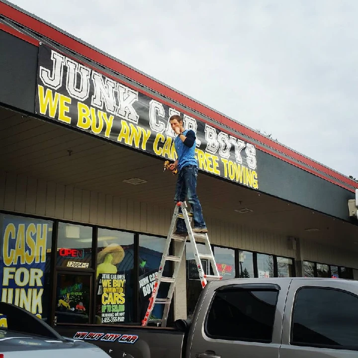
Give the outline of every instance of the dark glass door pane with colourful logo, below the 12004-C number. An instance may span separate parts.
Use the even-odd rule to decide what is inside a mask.
[[[57,275],[57,323],[89,323],[91,275]]]

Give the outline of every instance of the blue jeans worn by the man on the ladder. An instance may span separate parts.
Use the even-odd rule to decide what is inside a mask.
[[[202,215],[199,198],[196,195],[196,178],[198,169],[193,165],[181,168],[178,173],[178,181],[175,194],[175,202],[187,201],[190,203],[193,212],[194,228],[206,228],[206,224]],[[181,208],[179,208],[181,212]],[[178,219],[177,231],[187,232],[184,219]]]

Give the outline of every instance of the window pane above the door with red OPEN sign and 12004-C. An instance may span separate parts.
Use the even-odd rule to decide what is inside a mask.
[[[92,228],[59,223],[57,266],[88,269],[92,263]]]

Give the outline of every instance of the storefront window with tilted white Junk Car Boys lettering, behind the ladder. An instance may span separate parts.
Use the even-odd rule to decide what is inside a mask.
[[[149,305],[149,299],[153,292],[153,286],[156,280],[158,269],[163,256],[163,251],[167,238],[156,236],[139,235],[139,299],[141,307],[141,319],[144,318]],[[167,262],[163,276],[171,277],[171,263]],[[162,282],[159,286],[158,298],[166,298],[168,294],[170,283]],[[149,318],[153,320],[161,320],[163,317],[164,305],[156,304],[152,311],[152,316]]]

